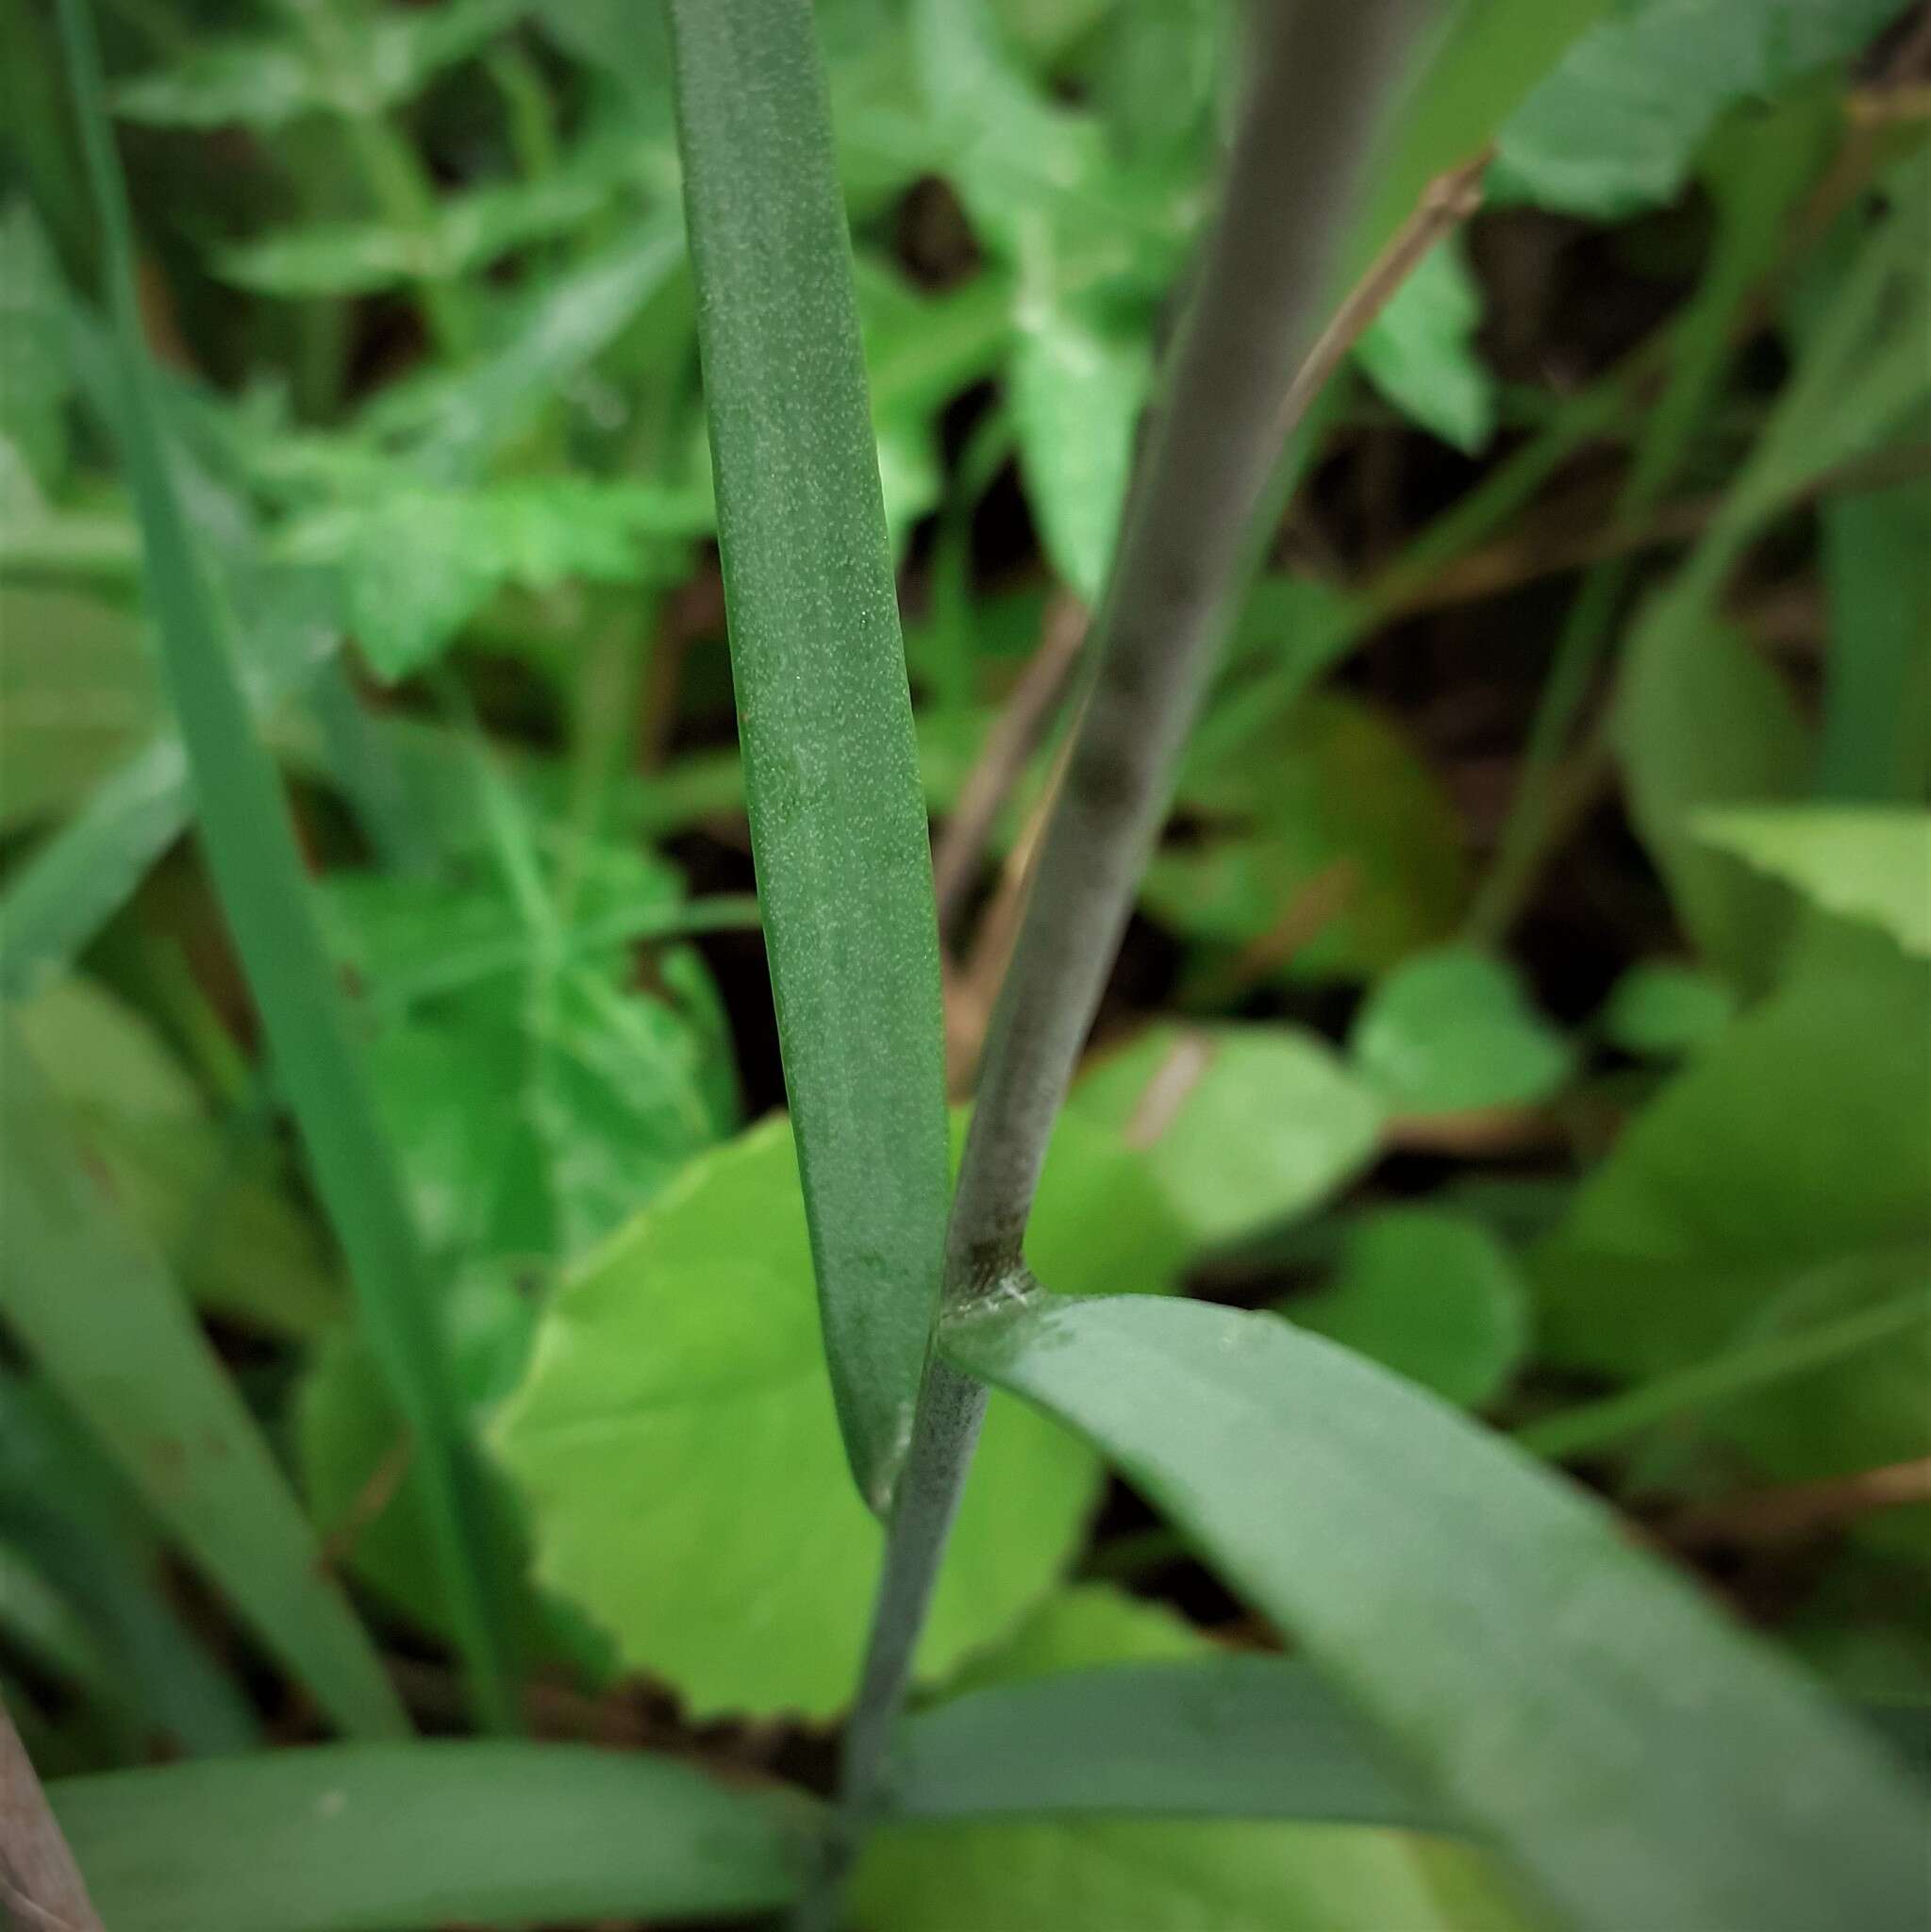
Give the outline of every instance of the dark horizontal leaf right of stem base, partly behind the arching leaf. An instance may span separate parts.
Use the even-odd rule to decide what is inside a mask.
[[[913,1718],[886,1818],[1303,1818],[1460,1830],[1305,1665],[1120,1663],[989,1685]]]

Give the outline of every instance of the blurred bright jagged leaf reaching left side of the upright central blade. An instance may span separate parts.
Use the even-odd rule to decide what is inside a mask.
[[[657,568],[651,539],[709,526],[701,498],[651,483],[394,485],[301,518],[284,533],[282,554],[342,572],[344,626],[382,678],[404,678],[502,585],[635,583]]]

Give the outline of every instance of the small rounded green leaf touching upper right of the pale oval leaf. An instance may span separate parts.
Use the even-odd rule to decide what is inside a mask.
[[[1356,1014],[1348,1047],[1404,1115],[1529,1107],[1556,1094],[1576,1065],[1516,970],[1468,947],[1396,966]]]

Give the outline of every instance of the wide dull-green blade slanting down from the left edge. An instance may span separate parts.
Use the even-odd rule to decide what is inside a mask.
[[[154,1513],[336,1721],[402,1706],[301,1507],[154,1258],[81,1165],[10,1020],[0,1032],[6,1318]]]

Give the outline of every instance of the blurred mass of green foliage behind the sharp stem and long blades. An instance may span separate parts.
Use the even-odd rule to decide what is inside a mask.
[[[1471,4],[1504,52],[1535,12]],[[964,1099],[1238,21],[817,14]],[[98,15],[180,483],[444,1283],[535,1721],[811,1776],[877,1530],[767,1119],[658,10]],[[6,1182],[100,1223],[10,1217],[0,1685],[48,1770],[313,1735],[247,1594],[305,1534],[282,1468],[448,1721],[409,1441],[189,837],[50,19],[0,23]],[[1280,1306],[1520,1432],[1889,1702],[1931,1700],[1927,106],[1898,0],[1618,0],[1529,89],[1284,456],[1033,1235],[1060,1291]],[[587,1331],[545,1327],[564,1269]],[[168,1339],[108,1362],[135,1275]],[[994,1408],[933,1681],[1267,1640]],[[230,1435],[239,1501],[195,1447]],[[1174,1924],[1456,1895],[1373,1833],[1155,1837]],[[910,1833],[861,1891],[989,1924],[1029,1872],[1041,1924],[1114,1926],[1118,1857]]]

